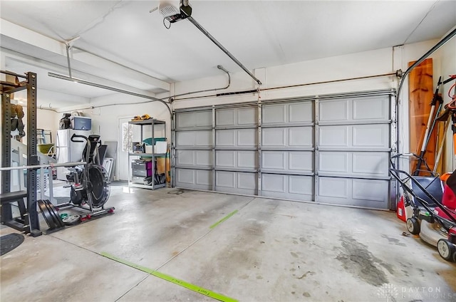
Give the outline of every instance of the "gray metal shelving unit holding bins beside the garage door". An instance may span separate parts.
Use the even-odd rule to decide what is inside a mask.
[[[142,143],[142,140],[144,140],[144,127],[151,127],[151,137],[152,137],[152,143],[155,143],[155,126],[156,125],[162,125],[164,127],[164,135],[166,135],[166,123],[163,120],[155,120],[155,119],[149,119],[149,120],[131,120],[128,122],[129,125],[135,125],[140,127],[140,142]],[[133,128],[133,131],[135,129]],[[128,141],[128,145],[131,145],[133,141]],[[155,184],[155,170],[157,169],[156,167],[156,160],[155,158],[157,156],[166,156],[165,153],[155,153],[155,145],[152,145],[152,153],[136,153],[136,152],[129,152],[128,153],[128,186],[129,187],[138,187],[142,189],[158,189],[161,187],[166,187],[166,182],[163,184]],[[132,157],[152,157],[152,182],[150,184],[138,184],[133,182],[133,171],[132,171]],[[147,170],[146,170],[147,171]],[[147,176],[147,173],[146,173]]]

